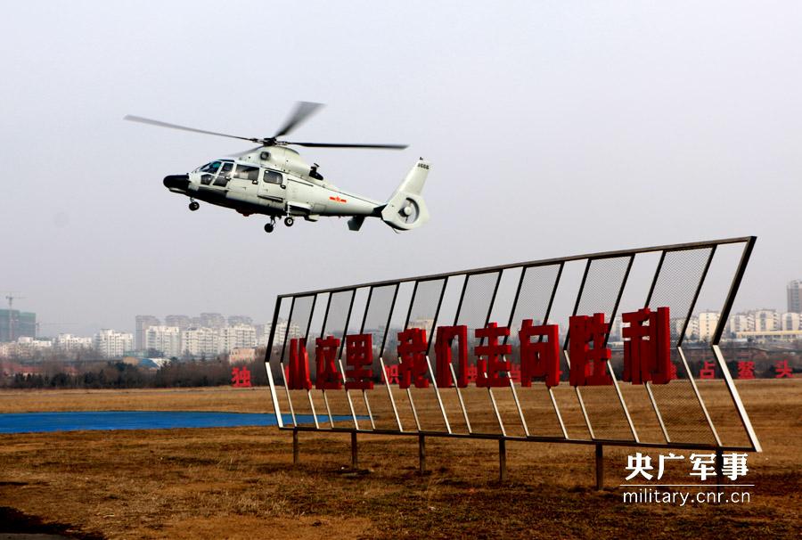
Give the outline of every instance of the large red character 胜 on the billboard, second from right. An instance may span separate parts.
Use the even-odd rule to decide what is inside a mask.
[[[571,386],[601,386],[612,384],[607,362],[610,348],[605,346],[610,324],[604,314],[575,315],[569,319],[569,354]],[[592,343],[593,348],[588,347]]]

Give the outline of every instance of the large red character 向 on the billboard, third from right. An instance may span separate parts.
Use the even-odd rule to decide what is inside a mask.
[[[520,338],[520,386],[532,386],[532,380],[544,378],[548,388],[560,384],[560,336],[556,324],[523,322]],[[532,341],[532,338],[538,338]],[[545,340],[543,340],[545,338]]]

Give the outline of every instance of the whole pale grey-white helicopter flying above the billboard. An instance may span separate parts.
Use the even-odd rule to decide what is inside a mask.
[[[169,191],[190,198],[189,209],[192,211],[201,206],[197,200],[203,200],[235,209],[243,216],[265,214],[270,217],[270,223],[265,225],[267,233],[273,232],[276,219],[281,217],[288,227],[295,223],[295,217],[307,221],[329,216],[350,217],[348,228],[352,231],[362,227],[365,217],[379,217],[397,232],[415,229],[429,221],[429,210],[421,197],[430,170],[429,161],[418,160],[389,199],[380,202],[326,182],[316,163],[308,165],[297,151],[288,147],[292,144],[313,148],[403,150],[405,144],[291,143],[278,139],[289,134],[320,107],[320,103],[299,102],[283,127],[267,138],[226,135],[131,115],[125,119],[258,143],[256,148],[234,154],[233,159],[214,160],[187,175],[164,178]]]

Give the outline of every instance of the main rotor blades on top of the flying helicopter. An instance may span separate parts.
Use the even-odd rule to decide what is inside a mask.
[[[374,149],[384,149],[384,150],[403,150],[407,147],[406,144],[293,143],[291,141],[278,140],[278,137],[287,135],[291,133],[291,131],[294,130],[296,127],[299,127],[300,124],[302,124],[309,117],[315,114],[315,112],[319,110],[321,107],[323,107],[323,104],[321,103],[298,102],[295,106],[295,109],[292,110],[290,117],[284,122],[284,124],[276,132],[276,134],[272,137],[265,137],[265,138],[228,135],[225,133],[219,133],[217,131],[209,131],[206,129],[198,129],[196,127],[186,127],[186,126],[180,126],[178,124],[171,124],[169,122],[163,122],[161,120],[146,119],[141,116],[135,116],[131,114],[126,115],[123,119],[130,120],[132,122],[139,122],[141,124],[150,124],[151,126],[169,127],[171,129],[181,129],[183,131],[192,131],[194,133],[201,133],[204,135],[217,135],[220,137],[240,139],[241,141],[250,141],[251,143],[260,144],[260,146],[258,146],[258,148],[256,149],[238,152],[237,154],[233,154],[234,156],[245,155],[247,153],[250,153],[251,151],[255,151],[266,146],[295,145],[295,146],[306,146],[308,148],[374,148]]]

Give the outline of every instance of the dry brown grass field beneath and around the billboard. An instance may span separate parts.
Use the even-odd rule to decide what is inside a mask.
[[[710,407],[722,436],[740,437],[723,389],[700,386],[711,404],[722,404]],[[572,390],[558,388],[569,432],[579,437]],[[428,438],[421,476],[416,438],[360,435],[360,469],[350,470],[347,434],[300,433],[293,466],[291,432],[275,428],[83,431],[0,435],[0,536],[40,522],[36,530],[85,538],[798,538],[802,380],[745,381],[739,389],[765,450],[749,455],[749,503],[624,503],[618,485],[633,451],[623,447],[605,448],[606,488],[597,492],[593,446],[510,442],[509,478],[500,484],[493,441]],[[626,392],[634,420],[647,425],[648,407]],[[4,391],[0,413],[267,413],[268,396],[267,389]],[[415,399],[436,418],[431,400]],[[585,402],[610,405],[592,392]],[[508,414],[509,403],[500,405]],[[389,418],[378,399],[372,408]],[[536,434],[549,434],[549,413],[536,405],[525,413]],[[660,451],[647,453],[656,459]],[[678,469],[662,482],[692,480]]]

